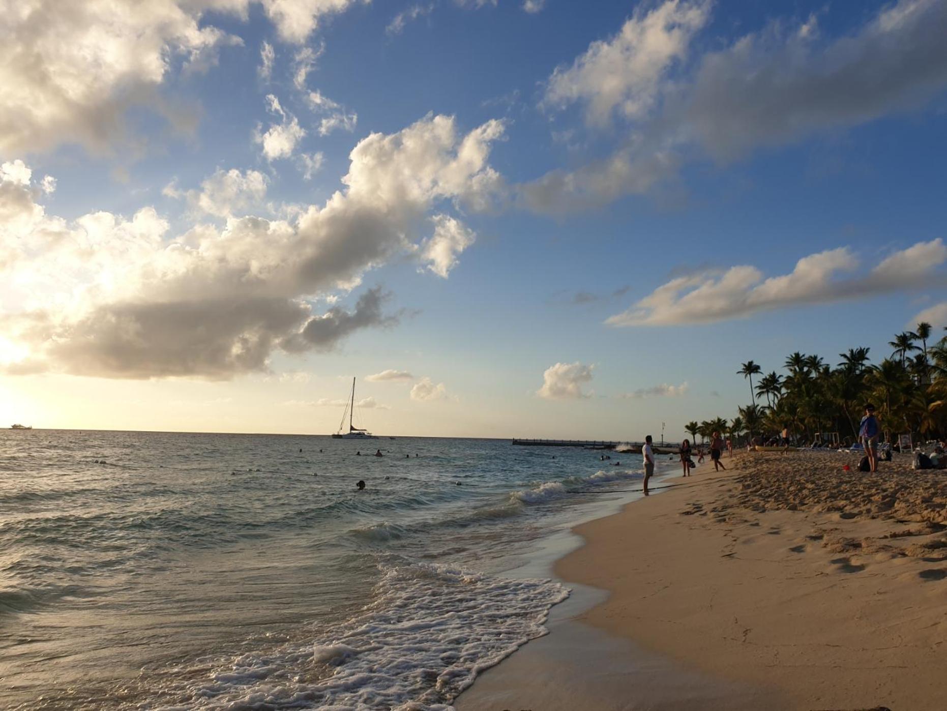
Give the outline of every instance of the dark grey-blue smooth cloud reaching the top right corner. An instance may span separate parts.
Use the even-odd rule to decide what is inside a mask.
[[[824,42],[812,18],[704,57],[669,117],[712,155],[738,156],[919,105],[947,84],[947,5],[901,0]]]

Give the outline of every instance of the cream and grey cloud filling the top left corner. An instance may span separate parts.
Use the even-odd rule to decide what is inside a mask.
[[[149,105],[183,119],[155,89],[180,67],[201,70],[238,44],[182,0],[5,3],[0,38],[0,155],[80,143],[128,143],[125,111]]]

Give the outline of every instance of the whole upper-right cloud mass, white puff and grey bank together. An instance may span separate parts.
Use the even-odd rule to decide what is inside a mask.
[[[615,38],[553,73],[546,107],[579,103],[591,126],[617,118],[623,131],[607,156],[521,186],[523,204],[556,214],[646,194],[688,161],[732,160],[857,126],[916,108],[947,86],[947,4],[939,0],[900,0],[833,40],[813,18],[774,21],[681,62],[710,7],[668,0],[637,11]]]

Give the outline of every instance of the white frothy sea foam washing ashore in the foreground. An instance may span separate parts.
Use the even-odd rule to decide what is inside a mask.
[[[381,567],[373,601],[331,638],[215,665],[212,680],[186,692],[188,707],[449,708],[481,671],[545,634],[549,609],[569,595],[548,579],[403,560]]]

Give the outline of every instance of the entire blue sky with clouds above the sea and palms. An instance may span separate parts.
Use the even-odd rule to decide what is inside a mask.
[[[947,327],[947,3],[0,0],[0,424],[679,438]]]

